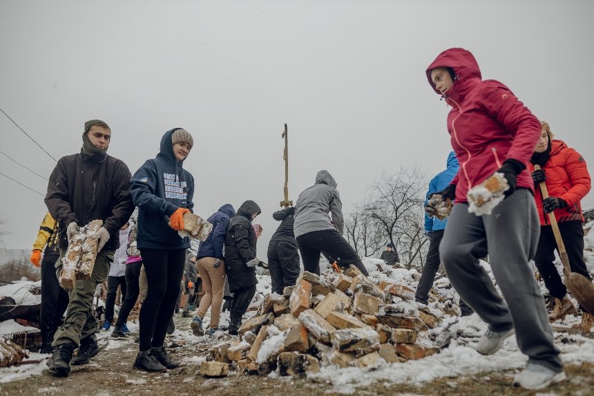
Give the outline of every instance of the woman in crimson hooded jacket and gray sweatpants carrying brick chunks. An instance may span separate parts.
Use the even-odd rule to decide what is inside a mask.
[[[535,389],[562,381],[563,363],[529,265],[539,223],[526,164],[539,138],[540,122],[504,84],[481,79],[479,65],[467,50],[444,51],[426,73],[432,88],[452,106],[448,131],[460,168],[452,184],[439,193],[455,199],[439,252],[461,299],[489,325],[477,352],[497,352],[515,332],[519,349],[528,355],[515,384]],[[468,190],[496,172],[508,185],[505,200],[491,215],[469,213]],[[503,299],[479,264],[487,254]]]

